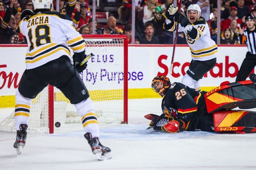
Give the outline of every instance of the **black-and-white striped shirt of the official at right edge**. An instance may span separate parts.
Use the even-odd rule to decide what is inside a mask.
[[[256,28],[253,31],[247,30],[247,28],[245,28],[244,36],[246,37],[246,45],[248,51],[251,54],[256,55]]]

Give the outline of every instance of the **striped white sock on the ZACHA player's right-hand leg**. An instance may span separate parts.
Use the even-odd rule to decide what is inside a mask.
[[[99,137],[99,126],[95,109],[90,98],[75,105],[78,115],[82,118],[85,132],[90,132],[92,137]]]

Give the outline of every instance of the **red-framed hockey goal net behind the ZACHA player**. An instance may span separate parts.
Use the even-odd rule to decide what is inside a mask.
[[[128,42],[123,35],[83,35],[86,54],[93,53],[80,76],[89,90],[100,123],[128,123]],[[72,53],[72,52],[71,52]],[[79,123],[74,105],[56,87],[48,86],[32,101],[29,131],[53,133],[54,112],[66,109],[65,123]],[[60,110],[61,111],[61,110]],[[0,131],[15,131],[14,111],[0,123]]]

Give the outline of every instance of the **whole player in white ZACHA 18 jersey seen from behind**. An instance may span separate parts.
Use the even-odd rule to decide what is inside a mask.
[[[28,49],[26,70],[15,95],[15,128],[17,137],[14,148],[17,154],[26,143],[30,105],[48,84],[60,89],[75,105],[81,116],[87,139],[93,154],[99,160],[110,159],[110,148],[99,142],[99,127],[88,90],[78,72],[87,64],[83,37],[75,30],[72,20],[59,12],[51,12],[52,0],[33,0],[34,13],[20,22],[20,31],[26,36]],[[22,15],[23,16],[23,15]],[[68,46],[74,52],[71,58]],[[74,67],[73,67],[74,65]]]

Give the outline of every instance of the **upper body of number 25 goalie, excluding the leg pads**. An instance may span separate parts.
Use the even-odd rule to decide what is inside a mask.
[[[166,76],[155,77],[151,87],[163,97],[163,114],[154,117],[149,126],[170,133],[196,129],[214,132],[213,117],[206,111],[203,92],[199,93],[181,83],[171,84]]]

